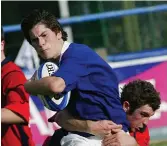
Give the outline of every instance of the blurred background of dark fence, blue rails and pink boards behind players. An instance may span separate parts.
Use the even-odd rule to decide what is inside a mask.
[[[167,140],[167,2],[1,1],[1,24],[6,35],[7,53],[27,77],[32,75],[39,62],[24,40],[20,22],[36,8],[55,14],[67,31],[69,41],[90,46],[109,62],[120,86],[134,78],[150,80],[156,86],[163,104],[149,123],[151,142],[154,142],[152,145],[166,146],[166,142],[155,142]],[[39,110],[39,103],[32,97],[33,103]],[[40,115],[43,110],[39,110]],[[45,123],[46,117],[41,116]],[[51,129],[57,128],[57,125],[46,123],[46,131],[42,132],[35,119],[31,122],[32,129],[36,129],[34,133],[38,134],[37,145],[42,143],[43,135],[49,135]]]

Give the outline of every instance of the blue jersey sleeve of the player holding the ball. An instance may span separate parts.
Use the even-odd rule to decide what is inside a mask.
[[[88,69],[85,63],[81,63],[77,58],[67,58],[63,60],[60,68],[53,75],[61,77],[66,84],[64,93],[74,89],[77,86],[79,78],[88,75]]]

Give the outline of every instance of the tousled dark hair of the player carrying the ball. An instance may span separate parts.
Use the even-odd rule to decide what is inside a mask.
[[[64,41],[67,40],[67,33],[63,30],[60,23],[57,21],[56,17],[43,9],[35,9],[29,15],[27,15],[21,22],[21,29],[24,33],[24,37],[27,41],[31,44],[29,31],[36,25],[36,24],[44,24],[47,28],[54,31],[56,34],[58,32],[62,33],[62,39]]]

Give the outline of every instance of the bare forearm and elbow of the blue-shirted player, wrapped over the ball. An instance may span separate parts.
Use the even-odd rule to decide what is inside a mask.
[[[60,77],[50,76],[35,80],[34,76],[36,76],[36,72],[24,84],[26,91],[31,95],[53,95],[61,93],[65,89],[65,81]]]

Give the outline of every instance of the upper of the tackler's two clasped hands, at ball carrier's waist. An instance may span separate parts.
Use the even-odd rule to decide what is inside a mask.
[[[104,137],[112,135],[115,131],[121,131],[122,125],[117,125],[109,120],[101,121],[87,121],[88,133],[91,133],[96,136]]]

